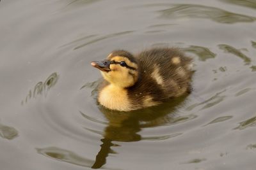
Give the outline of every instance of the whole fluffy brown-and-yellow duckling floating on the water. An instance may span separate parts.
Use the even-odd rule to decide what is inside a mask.
[[[132,55],[115,50],[93,61],[104,81],[99,103],[116,111],[132,111],[164,103],[191,91],[192,59],[177,48],[152,48]]]

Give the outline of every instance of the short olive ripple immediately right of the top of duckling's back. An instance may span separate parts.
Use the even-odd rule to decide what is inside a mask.
[[[205,61],[207,59],[213,59],[216,57],[216,53],[211,52],[209,48],[206,48],[204,46],[194,46],[191,45],[187,48],[182,48],[185,52],[194,53],[199,57],[199,60]]]

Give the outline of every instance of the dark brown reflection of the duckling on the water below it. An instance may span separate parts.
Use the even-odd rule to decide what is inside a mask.
[[[106,164],[108,154],[115,153],[111,150],[111,146],[118,145],[115,145],[112,141],[140,141],[142,138],[138,132],[141,131],[141,128],[156,127],[169,123],[175,115],[175,110],[184,102],[185,98],[186,96],[178,97],[161,106],[131,112],[111,111],[99,106],[100,111],[104,113],[109,123],[104,130],[103,138],[100,140],[102,145],[100,145],[100,151],[92,168],[100,168]]]

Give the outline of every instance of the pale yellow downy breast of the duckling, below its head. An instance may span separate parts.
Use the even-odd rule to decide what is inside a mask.
[[[129,101],[127,89],[109,84],[99,93],[99,103],[111,110],[129,111],[132,104]]]

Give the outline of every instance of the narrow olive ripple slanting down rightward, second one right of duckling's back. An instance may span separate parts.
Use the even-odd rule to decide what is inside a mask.
[[[233,46],[225,45],[225,44],[221,44],[221,45],[218,45],[218,46],[221,50],[224,50],[224,52],[232,53],[233,55],[236,55],[240,59],[243,59],[244,64],[246,64],[246,65],[248,65],[252,62],[252,60],[249,57],[247,57],[244,53],[242,53],[241,50],[237,50]]]

